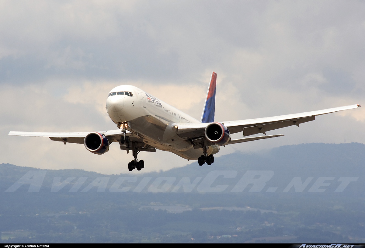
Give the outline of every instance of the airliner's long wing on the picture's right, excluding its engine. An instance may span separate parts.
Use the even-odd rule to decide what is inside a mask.
[[[324,110],[317,110],[311,112],[303,112],[298,114],[289,114],[289,115],[279,115],[274,117],[265,117],[258,119],[247,119],[242,121],[227,121],[222,122],[224,126],[226,126],[229,132],[238,133],[243,131],[243,136],[250,136],[253,134],[263,133],[266,135],[266,131],[279,129],[283,127],[296,125],[299,127],[299,124],[314,121],[317,115],[329,114],[333,112],[338,112],[342,110],[349,110],[352,108],[361,107],[359,104],[354,104],[350,106],[343,106],[337,108],[327,108]],[[177,126],[177,134],[183,138],[196,138],[204,136],[205,128],[210,123],[194,123],[194,124],[174,124]],[[265,137],[265,136],[262,136]],[[266,136],[268,137],[268,136]],[[258,137],[257,137],[258,138]],[[247,140],[248,141],[248,140]],[[244,141],[241,141],[244,142]],[[233,144],[238,142],[228,142],[228,144]]]

